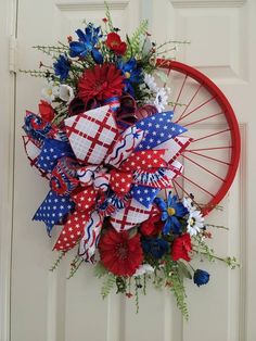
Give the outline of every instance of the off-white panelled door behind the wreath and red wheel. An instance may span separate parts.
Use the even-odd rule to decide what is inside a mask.
[[[49,271],[55,257],[51,251],[54,241],[47,238],[41,224],[30,220],[48,191],[48,184],[28,166],[21,139],[25,110],[37,111],[43,83],[18,72],[16,77],[5,74],[3,79],[8,79],[10,91],[2,91],[1,98],[10,115],[1,117],[4,123],[1,153],[8,155],[9,136],[12,137],[15,123],[15,157],[14,191],[11,190],[11,162],[4,164],[1,179],[0,262],[4,266],[1,271],[7,276],[1,279],[4,285],[0,296],[1,341],[255,341],[253,193],[256,181],[253,171],[256,160],[252,146],[256,143],[253,110],[256,1],[113,0],[108,3],[113,21],[123,31],[132,31],[142,17],[148,17],[157,41],[191,40],[189,47],[180,49],[178,60],[207,74],[231,101],[241,127],[242,161],[234,185],[222,202],[223,212],[213,213],[209,223],[230,228],[228,233],[214,231],[214,248],[222,256],[238,256],[243,266],[231,271],[221,264],[212,264],[207,267],[212,273],[208,286],[201,289],[192,283],[187,286],[189,323],[182,320],[174,298],[167,292],[149,290],[140,300],[138,315],[133,301],[115,293],[102,301],[101,283],[92,276],[90,266],[80,268],[73,279],[66,280],[72,255],[56,271]],[[9,18],[10,27],[3,25],[3,29],[16,34],[16,64],[22,70],[37,68],[43,58],[31,50],[33,46],[65,41],[84,18],[100,23],[104,17],[103,1],[18,0],[18,5],[15,4],[8,0],[0,3],[13,14],[13,21]],[[13,29],[15,10],[16,33]],[[15,91],[12,91],[14,84]],[[14,101],[15,121],[11,118],[14,109],[10,104]],[[4,229],[4,224],[11,226],[11,217],[12,235]],[[10,263],[11,276],[8,276]],[[3,300],[9,293],[10,306],[8,299]]]

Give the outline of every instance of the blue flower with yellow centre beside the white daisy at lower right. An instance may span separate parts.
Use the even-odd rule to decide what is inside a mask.
[[[182,218],[185,214],[188,214],[188,210],[180,201],[178,201],[177,195],[171,197],[171,193],[169,193],[167,202],[161,198],[156,198],[155,203],[162,211],[162,220],[166,222],[163,228],[163,233],[167,235],[170,231],[174,231],[178,235],[181,228],[181,224],[178,218]]]

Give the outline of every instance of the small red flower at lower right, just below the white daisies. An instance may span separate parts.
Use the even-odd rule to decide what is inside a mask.
[[[189,233],[184,233],[175,239],[171,248],[171,257],[174,261],[183,258],[190,262],[189,252],[192,250],[191,238]]]

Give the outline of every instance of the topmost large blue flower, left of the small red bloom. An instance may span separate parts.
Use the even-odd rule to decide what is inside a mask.
[[[69,55],[72,58],[79,56],[85,58],[89,53],[93,58],[97,64],[103,63],[103,56],[101,52],[95,48],[99,39],[102,38],[101,27],[94,27],[93,24],[89,23],[85,31],[77,29],[78,41],[69,42]]]

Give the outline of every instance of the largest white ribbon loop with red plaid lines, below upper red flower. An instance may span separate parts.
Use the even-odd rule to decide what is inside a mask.
[[[101,164],[118,137],[108,105],[65,119],[66,135],[78,161]]]

